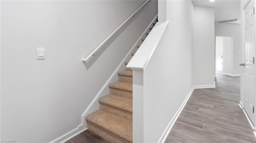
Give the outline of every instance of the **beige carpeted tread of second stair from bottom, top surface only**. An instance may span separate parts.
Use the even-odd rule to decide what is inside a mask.
[[[116,95],[108,94],[99,99],[99,102],[132,112],[132,100]]]

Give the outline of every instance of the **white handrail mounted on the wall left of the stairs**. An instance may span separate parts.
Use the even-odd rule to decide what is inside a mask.
[[[90,59],[92,59],[92,57],[100,50],[100,48],[102,48],[103,45],[105,45],[105,43],[107,43],[107,41],[113,37],[115,35],[115,33],[120,30],[131,18],[133,18],[135,16],[135,14],[147,3],[149,2],[149,0],[147,0],[144,4],[142,4],[142,6],[140,6],[140,8],[138,8],[138,10],[136,10],[131,16],[129,16],[120,26],[118,26],[115,31],[113,31],[104,41],[102,41],[102,43],[100,43],[100,45],[98,45],[98,47],[96,47],[96,49],[94,49],[92,51],[92,53],[90,53],[85,59],[82,59],[83,62],[88,63],[88,61],[90,61]]]

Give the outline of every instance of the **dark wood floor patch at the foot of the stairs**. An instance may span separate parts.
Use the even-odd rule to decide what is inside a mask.
[[[109,143],[109,142],[87,129],[86,131],[83,131],[82,133],[80,133],[79,135],[76,135],[75,137],[66,141],[65,143]]]

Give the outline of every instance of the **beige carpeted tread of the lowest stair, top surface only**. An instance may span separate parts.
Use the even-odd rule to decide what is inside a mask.
[[[86,120],[132,142],[132,121],[102,110],[89,114]]]

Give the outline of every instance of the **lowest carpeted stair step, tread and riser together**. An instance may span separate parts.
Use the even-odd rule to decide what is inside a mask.
[[[97,110],[86,117],[90,131],[111,143],[132,143],[132,121]]]

